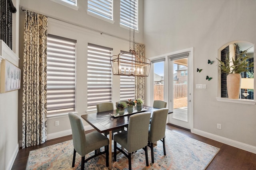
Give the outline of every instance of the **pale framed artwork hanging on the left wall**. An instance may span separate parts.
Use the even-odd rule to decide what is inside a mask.
[[[20,68],[4,59],[1,62],[0,93],[6,93],[20,89]]]

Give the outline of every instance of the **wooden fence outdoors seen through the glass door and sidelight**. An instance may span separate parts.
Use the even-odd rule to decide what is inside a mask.
[[[188,84],[174,84],[174,99],[187,97]],[[154,84],[154,100],[164,100],[164,85]]]

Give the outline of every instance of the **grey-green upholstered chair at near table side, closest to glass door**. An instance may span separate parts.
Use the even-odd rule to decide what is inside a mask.
[[[153,143],[156,141],[162,141],[164,148],[164,155],[166,155],[165,150],[165,129],[166,129],[166,119],[168,115],[168,108],[158,109],[153,111],[152,119],[148,130],[148,146],[151,149],[151,162],[154,163],[154,148]]]

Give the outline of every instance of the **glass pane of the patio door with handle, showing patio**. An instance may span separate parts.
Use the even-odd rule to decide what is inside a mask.
[[[173,118],[188,121],[188,58],[174,60]]]

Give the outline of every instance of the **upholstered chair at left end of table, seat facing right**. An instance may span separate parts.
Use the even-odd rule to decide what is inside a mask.
[[[99,133],[98,131],[93,131],[88,134],[85,134],[84,125],[81,117],[79,117],[78,115],[75,115],[72,112],[68,113],[68,117],[71,124],[72,138],[73,138],[73,145],[74,145],[72,167],[75,166],[76,152],[78,152],[78,154],[82,156],[81,170],[84,170],[84,164],[88,160],[105,153],[106,153],[106,167],[108,167],[108,145],[109,145],[108,138],[102,135],[101,133]],[[100,151],[101,147],[105,148],[103,152]],[[92,152],[93,150],[95,154],[85,159],[85,155]]]

